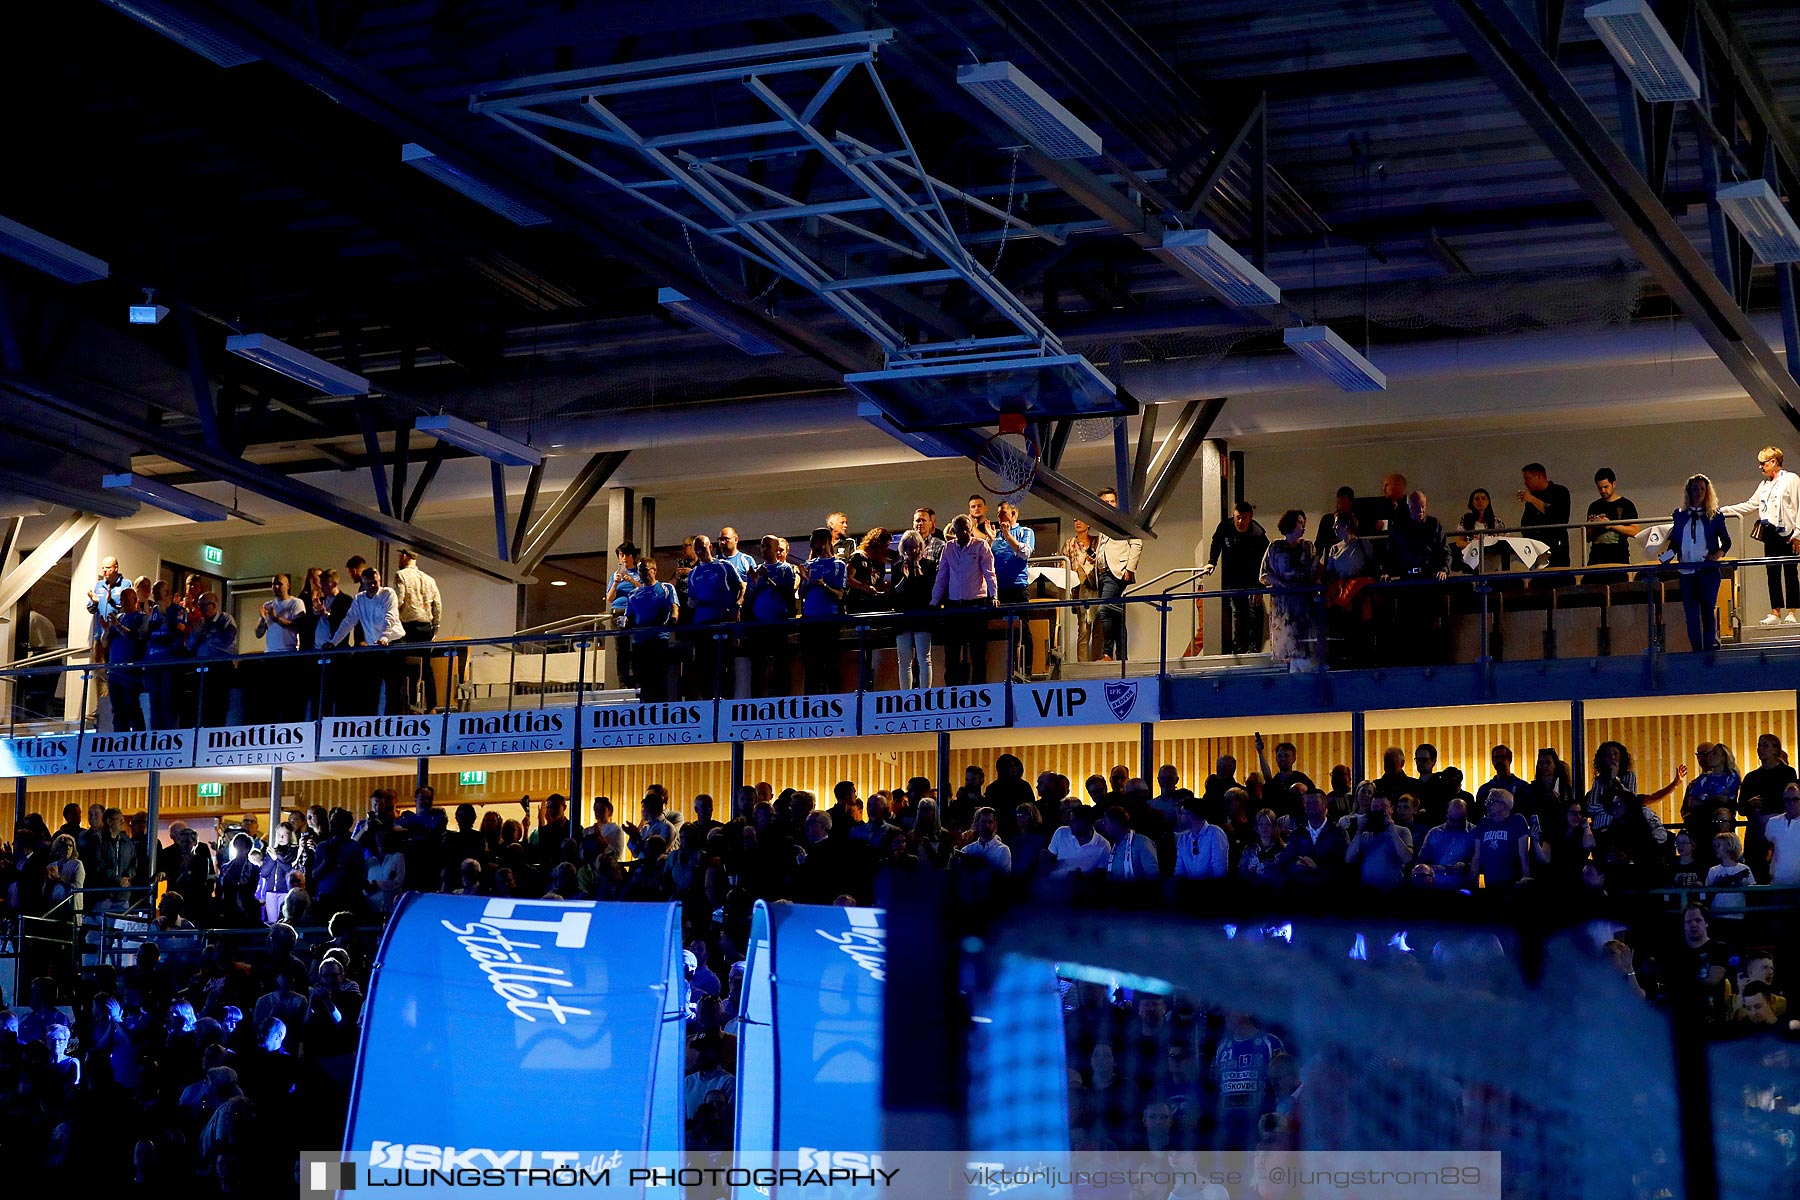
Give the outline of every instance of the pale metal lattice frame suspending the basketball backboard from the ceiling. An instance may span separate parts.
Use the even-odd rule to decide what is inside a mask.
[[[684,237],[724,246],[812,291],[889,363],[918,362],[931,351],[907,335],[902,317],[909,313],[893,311],[880,293],[923,282],[967,286],[990,318],[1042,354],[1060,353],[1037,313],[963,246],[945,210],[949,189],[925,171],[875,70],[877,50],[893,36],[857,31],[531,76],[482,88],[470,108],[644,203]],[[880,101],[886,146],[819,128],[826,104],[851,79]],[[675,99],[742,113],[745,94],[756,108],[736,124],[720,119],[716,128],[693,130],[670,117],[680,112]],[[648,108],[646,95],[670,103]],[[772,153],[817,160],[841,187],[830,200],[805,203],[745,173],[745,164]],[[974,203],[1006,228],[1058,241]],[[790,236],[796,228],[808,245]],[[877,263],[898,255],[904,270],[860,263],[860,255]]]

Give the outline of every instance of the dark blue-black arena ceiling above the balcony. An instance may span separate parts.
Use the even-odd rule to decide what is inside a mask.
[[[1760,336],[1746,340],[1744,313],[1778,306],[1778,277],[1706,201],[1712,180],[1764,173],[1791,194],[1800,23],[1780,0],[1656,7],[1703,47],[1701,103],[1636,101],[1580,5],[1550,0],[32,5],[0,50],[14,113],[0,216],[112,270],[67,286],[0,259],[0,491],[79,500],[103,471],[137,466],[400,538],[416,533],[407,500],[437,453],[401,434],[423,412],[529,439],[551,417],[839,389],[880,356],[819,295],[472,112],[472,97],[871,29],[893,31],[877,56],[893,113],[844,88],[817,124],[873,137],[896,117],[983,270],[1127,387],[1134,362],[1273,353],[1303,320],[1379,354],[1679,309],[1766,412],[1793,419],[1800,389]],[[171,29],[250,61],[220,67]],[[956,83],[959,65],[992,61],[1087,122],[1103,155],[1021,151]],[[747,119],[707,90],[657,104],[686,128]],[[403,144],[544,219],[473,203],[401,162]],[[776,137],[769,148],[742,160],[752,184],[846,201],[832,173],[779,155]],[[1600,178],[1618,164],[1631,178]],[[1183,223],[1262,264],[1283,304],[1224,304],[1159,254]],[[819,241],[846,272],[895,272],[868,246]],[[128,326],[144,288],[173,313]],[[664,309],[659,288],[783,353],[740,353]],[[907,336],[994,331],[963,281],[878,299]],[[248,331],[374,390],[320,396],[223,351]],[[295,482],[331,468],[385,473],[385,524]]]

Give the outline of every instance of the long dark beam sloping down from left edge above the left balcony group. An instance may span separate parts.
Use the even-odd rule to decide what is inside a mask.
[[[205,471],[218,482],[243,488],[245,491],[252,491],[259,497],[268,497],[270,500],[286,504],[288,507],[328,520],[333,525],[342,525],[344,529],[351,529],[382,542],[414,545],[443,561],[468,567],[470,570],[477,570],[504,583],[520,581],[520,572],[513,570],[511,565],[499,558],[482,554],[473,547],[466,547],[461,542],[441,538],[427,529],[419,529],[418,525],[385,513],[378,513],[360,504],[351,504],[322,488],[313,488],[311,484],[288,479],[286,475],[256,462],[247,462],[236,455],[223,455],[207,450],[205,446],[196,446],[184,437],[176,437],[166,430],[133,421],[121,410],[126,401],[130,401],[130,405],[137,410],[148,410],[151,405],[149,401],[124,396],[117,389],[108,389],[106,401],[94,405],[68,399],[61,392],[32,380],[4,378],[0,380],[0,389],[9,390],[29,403],[70,414],[95,428],[117,434],[119,437],[140,446],[146,453],[180,462],[196,471]]]

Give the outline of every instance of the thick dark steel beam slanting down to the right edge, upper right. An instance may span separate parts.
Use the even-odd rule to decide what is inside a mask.
[[[1656,189],[1562,76],[1507,0],[1433,0],[1481,70],[1669,291],[1744,392],[1800,428],[1800,381],[1683,234]]]

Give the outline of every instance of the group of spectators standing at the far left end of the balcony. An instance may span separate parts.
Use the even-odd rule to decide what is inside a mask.
[[[351,581],[347,592],[340,579]],[[202,576],[189,574],[176,594],[166,579],[131,581],[117,558],[103,558],[88,590],[90,660],[104,664],[94,671],[92,689],[94,700],[110,698],[112,729],[225,725],[234,693],[245,723],[437,705],[436,676],[421,667],[418,651],[337,657],[326,666],[299,653],[434,640],[443,596],[414,551],[400,551],[392,587],[383,587],[382,572],[358,554],[342,574],[310,567],[297,590],[290,576],[275,574],[268,590],[252,631],[263,655],[245,662],[238,658],[247,653],[238,621]]]

